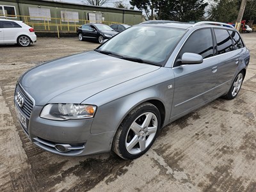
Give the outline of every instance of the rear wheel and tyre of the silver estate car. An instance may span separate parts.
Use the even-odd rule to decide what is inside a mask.
[[[228,91],[227,95],[223,96],[223,98],[228,100],[236,98],[243,84],[243,80],[244,80],[244,72],[241,71],[239,72],[239,74],[237,74],[235,80],[232,83],[232,86],[230,87],[230,90]]]

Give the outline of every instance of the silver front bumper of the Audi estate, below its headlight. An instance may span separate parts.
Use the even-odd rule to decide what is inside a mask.
[[[29,99],[27,92],[21,86],[16,88],[15,95],[20,92],[24,100]],[[55,121],[40,118],[43,106],[33,106],[31,115],[26,113],[26,104],[20,108],[15,99],[15,111],[20,125],[29,139],[38,147],[62,156],[86,156],[109,152],[115,132],[92,134],[93,118],[83,120]],[[25,112],[25,113],[24,113]],[[20,120],[26,118],[22,123]],[[66,147],[65,151],[58,150],[58,146]]]

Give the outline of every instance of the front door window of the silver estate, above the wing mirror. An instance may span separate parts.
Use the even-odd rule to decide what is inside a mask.
[[[203,58],[211,57],[213,55],[211,29],[201,29],[189,36],[178,58],[181,58],[184,52],[200,54]]]

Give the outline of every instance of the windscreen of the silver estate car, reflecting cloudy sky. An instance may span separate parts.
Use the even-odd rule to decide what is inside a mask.
[[[97,51],[163,65],[184,33],[185,29],[134,26],[108,40]]]

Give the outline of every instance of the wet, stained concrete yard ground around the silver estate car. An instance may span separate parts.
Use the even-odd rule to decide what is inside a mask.
[[[256,33],[239,95],[217,99],[164,127],[144,156],[62,157],[29,141],[14,111],[19,76],[43,61],[94,49],[77,38],[0,45],[0,191],[256,191]]]

